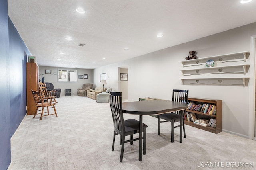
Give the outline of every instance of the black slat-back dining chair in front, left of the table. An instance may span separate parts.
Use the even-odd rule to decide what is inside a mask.
[[[110,108],[113,117],[114,123],[114,137],[112,151],[114,151],[115,138],[116,135],[121,135],[120,144],[121,144],[121,155],[120,162],[123,161],[124,156],[124,143],[130,142],[133,144],[133,141],[139,140],[139,138],[133,138],[133,135],[140,132],[140,122],[135,119],[124,120],[123,111],[122,111],[122,93],[121,92],[112,92],[110,91]],[[146,154],[146,128],[148,126],[143,123],[143,154]],[[125,137],[130,135],[130,140],[125,140]]]

